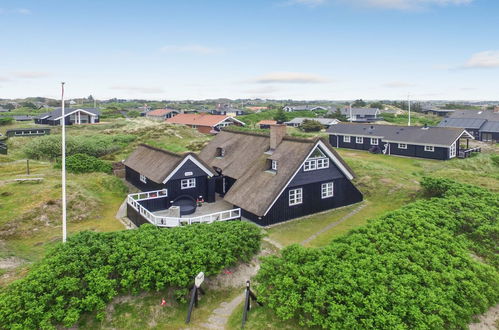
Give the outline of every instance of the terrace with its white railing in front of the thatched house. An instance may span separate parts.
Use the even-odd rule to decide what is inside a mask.
[[[241,218],[240,208],[233,208],[219,197],[214,203],[203,203],[196,207],[192,214],[175,216],[173,214],[177,210],[171,206],[166,189],[130,194],[127,204],[127,214],[136,225],[148,222],[158,227],[179,227]]]

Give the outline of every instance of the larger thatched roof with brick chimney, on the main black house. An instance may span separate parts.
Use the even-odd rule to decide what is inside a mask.
[[[207,164],[220,168],[222,174],[237,179],[224,199],[257,216],[263,216],[279,197],[292,176],[309,153],[322,142],[350,173],[341,157],[322,139],[284,137],[272,152],[269,135],[222,131],[200,153]],[[217,157],[217,148],[224,148],[223,158]],[[267,171],[268,159],[278,161],[276,173]]]

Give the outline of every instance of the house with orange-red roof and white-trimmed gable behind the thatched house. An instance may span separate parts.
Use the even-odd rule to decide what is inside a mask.
[[[166,120],[170,124],[187,125],[196,128],[199,132],[209,134],[218,133],[223,127],[236,125],[244,126],[240,120],[223,115],[208,115],[208,114],[187,114],[181,113],[175,117]]]

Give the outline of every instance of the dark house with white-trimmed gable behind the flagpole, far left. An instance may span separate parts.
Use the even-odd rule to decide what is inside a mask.
[[[99,122],[100,111],[95,108],[62,108],[35,117],[35,124],[60,125],[64,118],[66,125],[94,124]]]

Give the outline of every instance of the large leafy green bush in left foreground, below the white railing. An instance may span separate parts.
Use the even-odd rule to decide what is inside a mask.
[[[246,222],[81,232],[0,293],[0,328],[70,327],[94,310],[102,319],[119,293],[174,288],[183,295],[199,272],[248,261],[259,246],[260,230]]]

